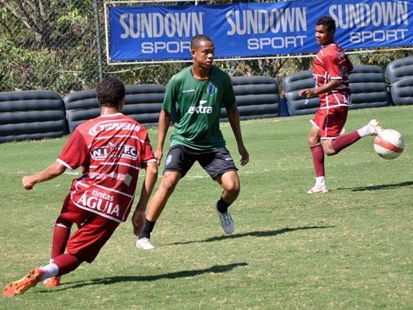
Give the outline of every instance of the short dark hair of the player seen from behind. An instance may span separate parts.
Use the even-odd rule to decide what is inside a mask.
[[[107,78],[100,80],[96,86],[96,93],[98,93],[98,103],[100,106],[116,108],[119,107],[120,102],[124,98],[125,90],[120,80]]]

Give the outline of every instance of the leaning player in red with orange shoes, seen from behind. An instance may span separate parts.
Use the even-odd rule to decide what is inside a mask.
[[[54,226],[50,263],[8,284],[4,297],[23,294],[42,280],[47,280],[49,287],[57,286],[60,276],[83,261],[91,263],[120,222],[127,219],[140,168],[146,169],[146,176],[132,222],[145,219],[146,204],[158,177],[148,133],[139,122],[120,113],[125,96],[121,81],[103,79],[96,91],[100,116],[76,127],[56,162],[23,177],[24,188],[31,190],[66,168],[82,167],[83,172],[73,180]],[[70,236],[74,223],[78,230]]]

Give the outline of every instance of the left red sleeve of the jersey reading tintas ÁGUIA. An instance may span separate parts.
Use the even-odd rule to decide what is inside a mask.
[[[57,161],[62,163],[66,168],[74,170],[79,166],[85,166],[86,161],[88,161],[88,156],[86,141],[81,133],[75,130],[57,158]]]

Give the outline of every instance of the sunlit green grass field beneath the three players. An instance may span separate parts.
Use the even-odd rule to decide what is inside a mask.
[[[158,220],[153,251],[135,248],[128,220],[60,287],[1,297],[0,309],[412,309],[413,106],[351,110],[347,132],[376,117],[402,132],[405,152],[385,161],[373,137],[361,139],[326,159],[330,192],[320,195],[306,194],[311,116],[242,122],[250,163],[239,166],[233,235],[223,236],[214,210],[219,186],[195,165]],[[221,129],[238,162],[231,128]],[[149,134],[156,145],[156,128]],[[31,191],[21,178],[54,161],[66,139],[0,145],[3,287],[48,263],[76,175]]]

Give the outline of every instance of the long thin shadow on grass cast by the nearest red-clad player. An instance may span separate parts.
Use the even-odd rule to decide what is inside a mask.
[[[88,285],[111,285],[118,282],[144,282],[144,281],[156,281],[161,279],[177,279],[180,277],[196,277],[197,275],[203,275],[204,273],[223,273],[229,272],[234,268],[245,267],[248,263],[233,263],[228,265],[215,265],[211,268],[199,269],[199,270],[183,270],[178,272],[164,273],[162,275],[131,275],[131,276],[115,276],[115,277],[103,277],[92,280],[76,281],[76,282],[63,282],[59,287],[54,289],[42,289],[41,293],[58,292],[65,289],[76,289],[78,287],[85,287]]]

